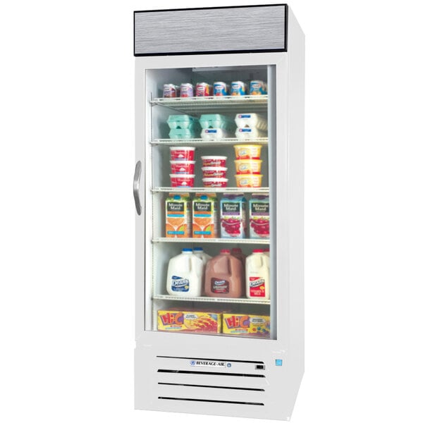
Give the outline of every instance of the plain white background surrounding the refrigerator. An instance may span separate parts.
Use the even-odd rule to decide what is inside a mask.
[[[231,1],[260,3],[276,2]],[[219,5],[1,4],[2,422],[216,421],[133,410],[132,23],[142,8]],[[421,422],[422,8],[290,6],[307,37],[306,373],[293,421]]]

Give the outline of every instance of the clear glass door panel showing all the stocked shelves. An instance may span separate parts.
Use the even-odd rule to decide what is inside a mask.
[[[274,338],[270,68],[146,71],[146,330]]]

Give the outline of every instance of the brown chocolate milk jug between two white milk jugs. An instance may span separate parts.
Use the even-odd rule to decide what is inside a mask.
[[[240,298],[243,283],[243,263],[230,250],[221,250],[207,262],[204,291],[208,297]]]

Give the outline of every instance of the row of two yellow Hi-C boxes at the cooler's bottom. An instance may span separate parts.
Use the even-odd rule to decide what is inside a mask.
[[[157,312],[157,330],[269,338],[270,317],[207,310],[164,309]]]

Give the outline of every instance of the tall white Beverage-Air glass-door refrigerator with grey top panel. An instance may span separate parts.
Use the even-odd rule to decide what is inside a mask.
[[[289,420],[304,372],[302,30],[286,4],[136,11],[134,54],[135,408]],[[247,120],[236,123],[237,116]],[[194,178],[176,166],[178,156],[171,168],[171,151],[180,150],[194,151]],[[207,185],[203,159],[215,156],[226,157],[217,166],[226,171]],[[258,159],[262,176],[255,178]],[[243,238],[239,226],[223,238],[227,197],[245,199],[232,209],[245,207],[245,215],[229,222],[240,216]],[[256,207],[255,197],[264,203]],[[169,198],[182,205],[169,208]],[[260,224],[269,230],[255,232]],[[185,276],[175,281],[168,263],[184,248],[191,257],[195,247],[226,256],[218,265],[202,262],[201,292],[192,296],[188,286],[198,275],[189,281],[186,262],[178,262],[174,273],[179,267]],[[260,257],[250,266],[266,264],[268,285],[260,285],[264,276],[248,279],[249,265],[238,257],[240,282],[234,248],[247,262],[253,251]],[[223,281],[218,270],[228,275]],[[228,295],[239,283],[241,293]]]

